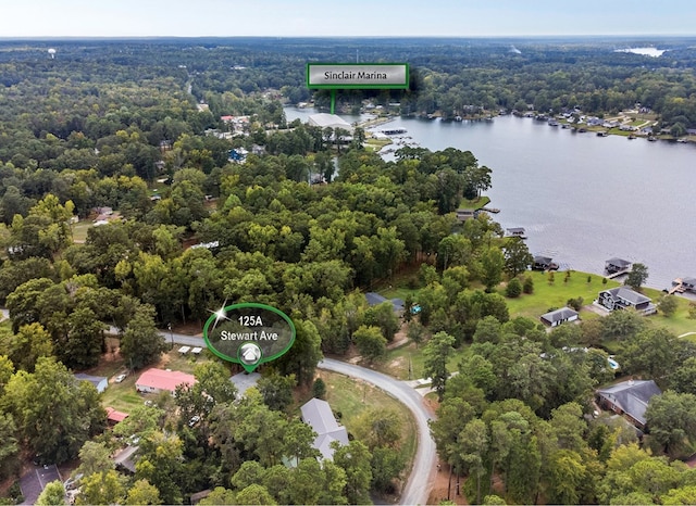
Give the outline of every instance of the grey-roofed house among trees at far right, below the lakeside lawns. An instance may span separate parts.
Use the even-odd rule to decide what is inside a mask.
[[[638,429],[645,429],[645,410],[654,395],[662,391],[652,380],[629,380],[597,390],[597,402],[605,409],[625,415]]]

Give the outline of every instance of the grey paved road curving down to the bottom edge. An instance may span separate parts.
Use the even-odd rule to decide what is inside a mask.
[[[423,397],[403,381],[395,380],[382,372],[346,364],[345,362],[324,358],[319,363],[318,367],[372,383],[409,408],[418,425],[418,448],[411,475],[401,494],[401,504],[427,504],[431,472],[437,461],[437,454],[435,442],[431,438],[430,427],[427,426],[427,420],[432,419],[432,414],[423,405]]]

